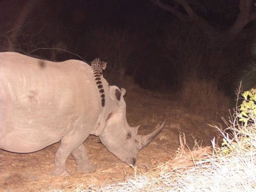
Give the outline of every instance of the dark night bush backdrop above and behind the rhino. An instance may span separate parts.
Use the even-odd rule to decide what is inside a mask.
[[[189,17],[180,1],[161,2]],[[0,49],[52,61],[81,59],[62,50],[87,62],[99,57],[109,62],[107,80],[118,85],[130,76],[146,89],[179,90],[188,78],[199,78],[229,94],[251,57],[255,20],[232,34],[239,0],[188,2],[211,33],[198,19],[182,20],[150,0],[2,0]]]

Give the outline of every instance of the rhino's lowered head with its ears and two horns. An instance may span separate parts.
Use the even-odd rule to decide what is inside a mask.
[[[118,107],[107,115],[105,128],[99,138],[103,145],[117,158],[134,165],[139,150],[156,137],[165,122],[149,135],[138,135],[139,126],[130,127],[126,120],[126,105],[123,98],[125,89],[120,91],[116,86],[111,87],[110,99],[116,100]],[[114,90],[113,87],[115,87]]]

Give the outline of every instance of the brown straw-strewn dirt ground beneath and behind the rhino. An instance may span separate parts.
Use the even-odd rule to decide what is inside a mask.
[[[137,166],[154,167],[160,162],[170,160],[179,147],[179,133],[184,133],[187,144],[194,146],[191,137],[210,145],[210,139],[217,131],[208,124],[216,125],[216,118],[209,118],[187,111],[174,95],[161,95],[149,91],[127,91],[127,120],[130,126],[141,124],[140,134],[150,133],[157,124],[166,120],[165,127],[153,141],[144,147],[138,157]],[[52,177],[54,154],[59,143],[29,154],[16,154],[0,150],[0,191],[53,191],[84,184],[101,186],[124,180],[132,175],[134,169],[118,160],[100,143],[99,138],[89,136],[84,142],[96,172],[80,174],[75,172],[76,162],[72,155],[67,160],[68,177]]]

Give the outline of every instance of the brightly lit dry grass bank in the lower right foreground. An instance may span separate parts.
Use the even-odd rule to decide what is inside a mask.
[[[180,147],[172,160],[156,167],[137,166],[132,176],[118,183],[87,188],[73,185],[63,191],[256,191],[256,117],[247,127],[239,124],[238,117],[239,112],[235,112],[226,122],[229,134],[216,127],[227,145],[217,145],[214,138],[212,147],[196,143],[191,151],[185,138],[180,137]]]

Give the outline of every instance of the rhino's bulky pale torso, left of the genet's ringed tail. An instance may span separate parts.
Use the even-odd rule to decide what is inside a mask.
[[[0,53],[0,148],[40,150],[84,121],[93,124],[100,107],[93,73],[82,61],[50,62]],[[91,121],[91,122],[90,122]]]

